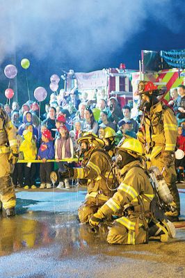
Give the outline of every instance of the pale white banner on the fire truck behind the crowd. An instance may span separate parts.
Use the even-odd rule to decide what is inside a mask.
[[[107,74],[106,71],[96,70],[95,72],[77,72],[78,89],[96,89],[99,87],[106,87]]]

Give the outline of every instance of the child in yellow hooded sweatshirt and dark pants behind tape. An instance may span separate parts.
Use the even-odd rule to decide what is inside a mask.
[[[19,147],[19,152],[23,152],[24,159],[31,161],[37,156],[37,148],[33,140],[33,133],[30,127],[23,131],[23,142]],[[35,183],[35,163],[24,163],[24,189],[36,188]]]

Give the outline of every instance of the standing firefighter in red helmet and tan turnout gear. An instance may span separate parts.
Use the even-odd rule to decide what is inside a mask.
[[[178,220],[180,214],[179,193],[175,181],[175,146],[177,142],[177,121],[174,113],[162,104],[156,85],[150,81],[138,84],[140,110],[143,111],[142,129],[138,131],[138,140],[143,143],[147,156],[147,169],[159,167],[173,196],[177,209],[167,212],[172,221]]]

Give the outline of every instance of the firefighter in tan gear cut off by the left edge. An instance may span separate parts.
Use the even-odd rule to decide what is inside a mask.
[[[8,114],[0,108],[0,199],[3,217],[15,215],[16,197],[10,174],[17,160],[17,131]]]

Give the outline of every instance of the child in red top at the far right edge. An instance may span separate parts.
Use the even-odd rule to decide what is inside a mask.
[[[178,126],[177,136],[177,149],[181,149],[185,154],[185,137],[182,136],[182,126]],[[183,156],[183,152],[181,156]],[[177,182],[184,183],[184,156],[179,159],[175,159],[175,167],[177,172]]]

